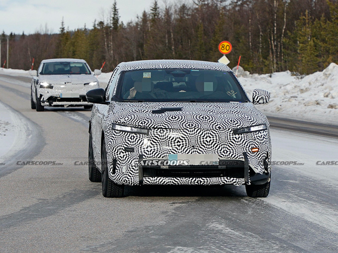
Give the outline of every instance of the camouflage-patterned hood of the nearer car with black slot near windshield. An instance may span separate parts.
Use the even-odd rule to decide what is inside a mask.
[[[181,111],[153,113],[161,108]],[[267,118],[252,103],[112,102],[106,123],[146,128],[239,128],[267,124]]]

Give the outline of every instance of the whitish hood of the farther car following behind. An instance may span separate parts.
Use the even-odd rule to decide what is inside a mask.
[[[65,75],[39,75],[40,82],[47,82],[50,84],[65,84],[65,83],[89,83],[96,82],[97,79],[89,74],[65,74]]]

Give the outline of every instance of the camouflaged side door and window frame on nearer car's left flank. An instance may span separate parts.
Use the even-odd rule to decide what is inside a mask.
[[[106,87],[106,99],[111,101],[113,95],[115,83],[119,76],[119,69],[115,68],[108,85]],[[93,154],[94,160],[97,168],[101,170],[101,140],[102,140],[102,131],[104,118],[107,116],[109,105],[103,104],[94,104],[91,110],[91,134],[92,134],[92,144],[93,144]]]

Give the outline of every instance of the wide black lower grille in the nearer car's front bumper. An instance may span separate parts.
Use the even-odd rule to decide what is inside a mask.
[[[243,165],[242,165],[243,164]],[[238,165],[142,166],[143,177],[244,178],[244,162]]]

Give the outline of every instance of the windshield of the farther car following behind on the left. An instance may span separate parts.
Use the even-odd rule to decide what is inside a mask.
[[[90,70],[85,63],[76,62],[54,62],[44,63],[40,74],[61,75],[61,74],[90,74]]]

